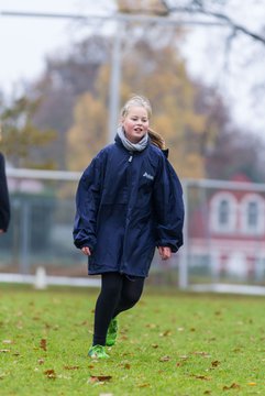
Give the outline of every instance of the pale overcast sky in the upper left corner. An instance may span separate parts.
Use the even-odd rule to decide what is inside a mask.
[[[107,12],[109,1],[0,0],[0,11],[89,14]],[[45,56],[63,51],[73,40],[74,22],[0,15],[0,87],[10,94],[20,80],[34,79],[44,68]]]

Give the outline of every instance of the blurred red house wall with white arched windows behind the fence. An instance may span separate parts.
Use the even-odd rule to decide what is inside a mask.
[[[200,199],[189,205],[188,219],[190,271],[208,270],[214,280],[265,283],[265,190],[236,190],[235,184],[196,196]]]

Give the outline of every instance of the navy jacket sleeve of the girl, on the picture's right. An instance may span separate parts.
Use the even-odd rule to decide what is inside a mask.
[[[154,185],[157,246],[177,252],[183,245],[183,188],[173,166],[165,157]]]

